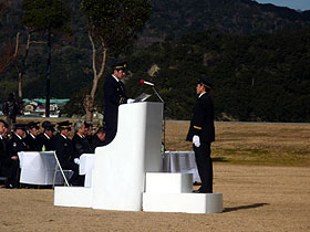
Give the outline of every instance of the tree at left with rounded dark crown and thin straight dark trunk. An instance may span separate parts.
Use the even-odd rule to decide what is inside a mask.
[[[24,11],[22,22],[30,33],[39,32],[48,41],[45,116],[49,117],[52,34],[69,32],[71,12],[61,0],[24,0],[22,9]]]

